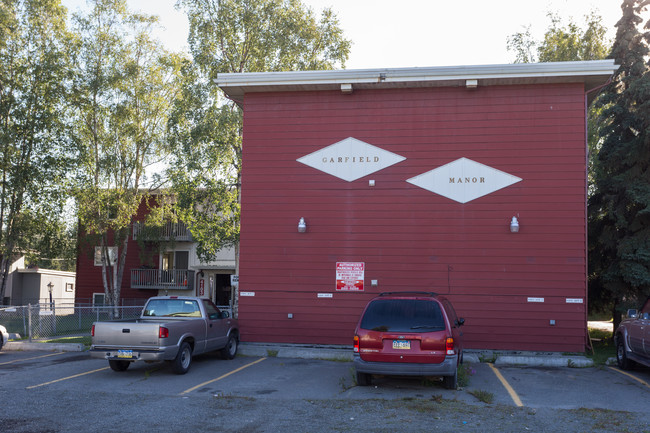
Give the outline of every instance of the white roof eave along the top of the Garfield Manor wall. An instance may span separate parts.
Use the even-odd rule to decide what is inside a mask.
[[[338,90],[355,88],[429,87],[464,85],[584,82],[585,90],[603,84],[618,66],[614,60],[514,63],[507,65],[442,66],[427,68],[343,69],[331,71],[251,72],[218,74],[216,84],[241,102],[249,92]]]

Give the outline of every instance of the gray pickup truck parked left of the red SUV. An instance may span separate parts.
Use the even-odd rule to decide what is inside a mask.
[[[192,356],[221,351],[233,359],[239,345],[239,325],[209,299],[189,296],[150,298],[139,319],[95,322],[90,356],[104,358],[115,371],[135,361],[169,361],[185,374]]]

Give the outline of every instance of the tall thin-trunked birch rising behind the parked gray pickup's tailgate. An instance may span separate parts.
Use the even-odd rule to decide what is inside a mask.
[[[156,18],[131,13],[125,0],[94,0],[76,16],[80,36],[75,136],[79,221],[101,247],[106,300],[119,305],[133,219],[154,183],[146,169],[165,154],[181,59],[151,38]],[[109,247],[117,249],[111,260]]]

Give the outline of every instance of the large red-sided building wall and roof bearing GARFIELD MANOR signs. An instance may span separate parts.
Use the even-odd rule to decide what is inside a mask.
[[[219,75],[244,110],[242,340],[351,344],[370,298],[417,290],[468,348],[584,351],[586,107],[615,70]]]

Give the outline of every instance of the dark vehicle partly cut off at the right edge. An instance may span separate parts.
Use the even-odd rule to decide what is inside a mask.
[[[628,310],[614,336],[616,361],[619,368],[627,370],[634,363],[650,367],[650,298],[641,310]]]

